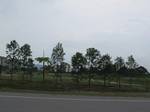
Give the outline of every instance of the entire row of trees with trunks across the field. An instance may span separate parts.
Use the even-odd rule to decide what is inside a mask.
[[[32,76],[34,69],[34,60],[32,59],[32,51],[29,44],[19,46],[13,40],[6,46],[7,61],[9,63],[11,79],[14,70],[22,70],[24,74],[28,73]],[[139,66],[134,57],[128,57],[127,62],[122,57],[117,57],[114,61],[108,54],[101,55],[100,51],[95,48],[88,48],[86,54],[80,52],[74,54],[71,58],[71,65],[64,61],[65,52],[61,43],[58,43],[52,51],[51,57],[35,58],[36,61],[43,64],[43,80],[45,80],[45,70],[55,72],[56,82],[61,79],[62,72],[72,72],[76,81],[79,83],[82,74],[86,73],[88,77],[89,87],[94,74],[103,74],[104,85],[108,74],[117,73],[123,75],[148,74],[145,67]],[[68,68],[70,67],[70,69]],[[69,70],[66,71],[66,68]],[[23,76],[24,77],[24,76]]]

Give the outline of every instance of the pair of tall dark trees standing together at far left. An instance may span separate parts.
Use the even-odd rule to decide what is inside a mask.
[[[21,70],[24,72],[24,74],[28,73],[32,75],[34,60],[32,59],[32,51],[29,44],[24,44],[20,47],[19,44],[13,40],[6,45],[6,54],[7,63],[11,73],[11,79],[13,78],[13,73],[16,70]]]

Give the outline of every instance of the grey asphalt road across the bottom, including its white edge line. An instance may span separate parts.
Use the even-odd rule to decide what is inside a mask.
[[[150,99],[0,93],[0,112],[150,112]]]

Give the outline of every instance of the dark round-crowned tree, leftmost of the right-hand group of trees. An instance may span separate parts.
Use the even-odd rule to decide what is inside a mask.
[[[80,80],[82,79],[82,72],[86,65],[86,58],[83,56],[82,53],[77,52],[73,55],[71,63],[72,63],[72,72],[73,77],[75,78],[77,85],[79,87]]]

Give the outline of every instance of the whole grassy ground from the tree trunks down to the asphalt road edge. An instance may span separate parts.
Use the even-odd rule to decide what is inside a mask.
[[[63,74],[62,81],[56,84],[53,73],[47,73],[45,81],[41,73],[34,73],[32,81],[29,75],[14,74],[10,80],[9,74],[2,74],[0,80],[0,91],[19,91],[35,92],[48,94],[66,95],[88,95],[88,96],[141,96],[150,97],[150,78],[149,77],[121,77],[121,88],[115,74],[107,77],[106,86],[103,86],[103,76],[96,76],[92,79],[91,88],[88,87],[88,79],[80,81],[80,86],[73,82],[71,75]]]

